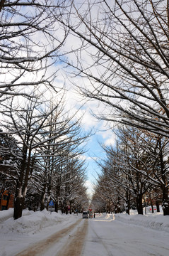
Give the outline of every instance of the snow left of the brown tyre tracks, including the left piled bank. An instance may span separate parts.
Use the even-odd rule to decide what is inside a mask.
[[[13,220],[13,209],[0,211],[0,256],[13,256],[29,245],[75,223],[81,215],[43,210],[23,210],[23,216]]]

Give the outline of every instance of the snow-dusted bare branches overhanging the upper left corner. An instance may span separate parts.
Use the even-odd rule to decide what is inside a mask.
[[[56,21],[64,5],[64,0],[0,1],[0,100],[53,87],[57,70],[47,69],[66,38]]]

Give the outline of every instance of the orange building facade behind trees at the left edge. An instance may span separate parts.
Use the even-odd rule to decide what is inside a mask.
[[[0,210],[8,210],[8,208],[13,208],[14,206],[14,196],[8,191],[4,191],[0,198]]]

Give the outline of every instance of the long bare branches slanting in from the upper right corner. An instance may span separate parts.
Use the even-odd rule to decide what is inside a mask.
[[[99,118],[169,137],[168,10],[163,0],[88,0],[62,16],[78,41],[66,63],[86,79],[83,95],[106,106]]]

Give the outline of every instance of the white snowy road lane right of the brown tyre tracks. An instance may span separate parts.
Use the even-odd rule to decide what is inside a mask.
[[[88,220],[81,256],[168,256],[169,234],[112,219]]]

